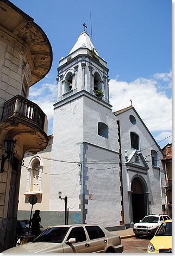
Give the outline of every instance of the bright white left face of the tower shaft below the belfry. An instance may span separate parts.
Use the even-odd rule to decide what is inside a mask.
[[[79,210],[80,145],[83,142],[83,99],[68,102],[54,110],[51,193],[49,210],[64,211],[64,202],[58,200],[58,192],[68,197],[67,207]],[[73,207],[74,206],[74,207]]]

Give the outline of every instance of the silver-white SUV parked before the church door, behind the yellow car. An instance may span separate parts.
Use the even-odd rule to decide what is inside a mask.
[[[134,224],[133,232],[136,237],[154,235],[159,225],[166,220],[171,220],[171,218],[164,214],[147,215],[139,223]]]

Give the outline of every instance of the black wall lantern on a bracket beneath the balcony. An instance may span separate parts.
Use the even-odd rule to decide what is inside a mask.
[[[4,148],[7,156],[4,157],[4,155],[2,155],[1,173],[4,172],[3,167],[4,167],[5,160],[9,159],[12,153],[14,152],[15,144],[16,144],[16,139],[15,141],[14,139],[4,139]]]

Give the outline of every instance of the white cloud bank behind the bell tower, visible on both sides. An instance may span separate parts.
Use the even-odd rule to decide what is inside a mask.
[[[168,137],[171,133],[172,102],[165,93],[171,83],[170,73],[157,73],[152,79],[137,78],[130,83],[111,79],[109,82],[110,103],[112,111],[117,111],[132,105],[143,119],[151,132],[155,133],[157,141]],[[161,81],[169,79],[166,84]],[[163,88],[163,91],[161,91]],[[29,99],[40,106],[47,114],[48,128],[52,129],[53,104],[57,97],[57,84],[40,83],[30,89]],[[157,135],[159,133],[159,135]],[[171,138],[170,138],[171,140]],[[169,142],[170,143],[170,142]]]

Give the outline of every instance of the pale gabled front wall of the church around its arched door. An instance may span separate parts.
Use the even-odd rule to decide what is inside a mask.
[[[136,119],[136,124],[133,125],[129,120],[129,115],[133,115]],[[117,115],[117,119],[120,120],[120,131],[121,131],[121,145],[122,145],[122,169],[123,169],[123,200],[124,200],[124,222],[130,223],[129,216],[129,202],[128,202],[128,191],[130,190],[130,185],[133,177],[137,174],[137,172],[132,172],[127,170],[126,167],[126,159],[125,159],[125,151],[127,150],[128,157],[132,154],[133,149],[130,144],[130,131],[133,131],[139,135],[140,141],[140,151],[143,157],[146,159],[146,163],[148,164],[149,169],[146,171],[142,171],[139,173],[141,177],[146,181],[148,186],[149,193],[149,211],[150,214],[161,214],[162,204],[165,199],[165,193],[161,189],[162,185],[165,185],[164,180],[164,170],[161,163],[161,159],[163,159],[163,154],[158,148],[157,144],[151,137],[151,135],[146,130],[146,127],[143,125],[139,116],[130,108],[128,111],[122,112]],[[152,159],[151,159],[151,150],[154,149],[158,152],[158,168],[152,167]],[[162,181],[160,181],[160,175],[162,176]]]

